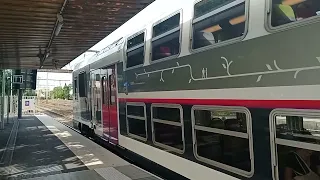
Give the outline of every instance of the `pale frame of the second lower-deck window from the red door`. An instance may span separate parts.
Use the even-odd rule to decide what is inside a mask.
[[[154,119],[153,118],[153,107],[162,107],[162,108],[175,108],[175,109],[179,109],[180,111],[180,127],[181,127],[181,135],[182,135],[182,144],[183,144],[183,148],[181,149],[177,149],[171,146],[168,146],[166,144],[162,144],[160,142],[157,142],[155,139],[155,130],[154,130],[154,122],[156,123],[160,123],[160,124],[165,124],[165,125],[171,125],[171,126],[176,126],[179,127],[178,122],[174,122],[174,121],[170,121],[170,120],[165,120],[165,119]],[[154,145],[159,146],[161,148],[164,149],[168,149],[171,150],[173,152],[179,153],[179,154],[184,154],[185,152],[185,136],[184,136],[184,121],[183,121],[183,108],[180,104],[165,104],[165,103],[152,103],[150,106],[150,110],[151,110],[151,131],[152,131],[152,142]],[[156,120],[156,121],[154,121]],[[165,121],[165,123],[163,123],[163,121]]]

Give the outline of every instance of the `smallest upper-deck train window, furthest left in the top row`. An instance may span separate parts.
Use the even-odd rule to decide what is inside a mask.
[[[144,60],[144,38],[142,32],[128,39],[127,41],[127,68],[142,65]]]

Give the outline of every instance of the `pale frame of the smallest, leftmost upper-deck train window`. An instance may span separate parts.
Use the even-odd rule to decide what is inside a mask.
[[[127,54],[128,54],[128,50],[133,51],[133,50],[135,50],[135,49],[138,49],[138,47],[133,47],[133,48],[129,48],[129,49],[128,49],[128,41],[129,41],[130,39],[133,39],[133,38],[139,36],[139,35],[142,34],[142,33],[144,33],[143,62],[142,62],[142,64],[139,64],[139,65],[136,65],[136,66],[127,67],[127,62],[128,62],[128,56],[127,56]],[[130,69],[136,69],[136,68],[139,68],[139,67],[143,67],[143,65],[144,65],[144,63],[145,63],[145,59],[146,59],[146,42],[147,42],[147,41],[146,41],[146,37],[147,37],[147,29],[140,30],[140,31],[134,33],[133,35],[127,37],[126,43],[125,43],[125,47],[124,47],[124,49],[125,49],[125,51],[124,51],[124,52],[125,52],[125,53],[124,53],[124,57],[125,57],[125,61],[124,61],[124,62],[125,62],[125,63],[124,63],[124,68],[123,68],[124,71],[130,70]],[[140,46],[140,45],[139,45],[139,46]]]

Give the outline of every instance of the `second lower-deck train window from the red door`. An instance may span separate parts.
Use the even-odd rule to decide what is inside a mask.
[[[169,151],[184,153],[182,107],[176,104],[151,105],[152,141]]]

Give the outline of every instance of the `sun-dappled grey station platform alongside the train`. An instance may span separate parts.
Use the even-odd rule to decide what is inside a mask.
[[[48,115],[0,130],[0,180],[160,180]]]

